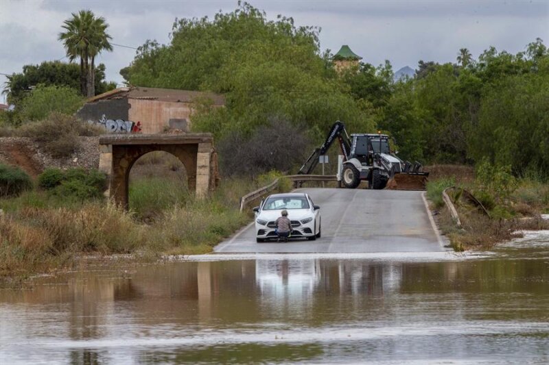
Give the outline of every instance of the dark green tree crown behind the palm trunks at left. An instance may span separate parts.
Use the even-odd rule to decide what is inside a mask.
[[[95,67],[95,94],[101,94],[116,87],[113,82],[105,81],[105,65]],[[23,72],[8,76],[5,93],[9,103],[18,104],[38,86],[67,86],[80,90],[80,71],[78,65],[60,61],[45,61],[41,64],[27,64]],[[82,95],[84,96],[84,95]]]

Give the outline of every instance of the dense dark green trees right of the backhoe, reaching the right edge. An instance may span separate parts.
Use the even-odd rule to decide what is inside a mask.
[[[494,47],[460,63],[419,63],[400,81],[377,123],[404,158],[484,161],[513,173],[549,171],[549,52],[540,39],[516,55]],[[466,59],[466,62],[463,60]]]

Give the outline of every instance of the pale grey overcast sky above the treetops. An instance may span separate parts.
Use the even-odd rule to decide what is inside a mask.
[[[335,53],[349,45],[364,62],[390,60],[394,71],[415,68],[418,60],[455,62],[463,47],[477,58],[490,45],[517,53],[538,37],[549,44],[549,0],[248,2],[265,10],[270,19],[282,14],[292,16],[296,25],[320,27],[323,50]],[[147,39],[167,43],[176,17],[211,18],[236,6],[232,0],[0,0],[0,73],[19,73],[23,65],[45,60],[66,60],[57,40],[60,25],[81,9],[106,18],[113,43],[138,47]],[[119,70],[134,55],[134,49],[115,46],[98,61],[106,65],[109,81],[121,83]],[[4,82],[0,75],[0,85]]]

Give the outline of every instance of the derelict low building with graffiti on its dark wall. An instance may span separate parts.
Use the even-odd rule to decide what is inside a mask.
[[[158,134],[168,129],[189,131],[198,103],[224,105],[224,97],[213,92],[163,88],[117,88],[89,99],[76,116],[102,125],[108,133]]]

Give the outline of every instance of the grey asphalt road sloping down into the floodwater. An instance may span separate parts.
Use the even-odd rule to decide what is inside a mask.
[[[315,241],[255,242],[248,225],[218,244],[216,253],[349,253],[446,251],[423,192],[302,188],[322,216]]]

